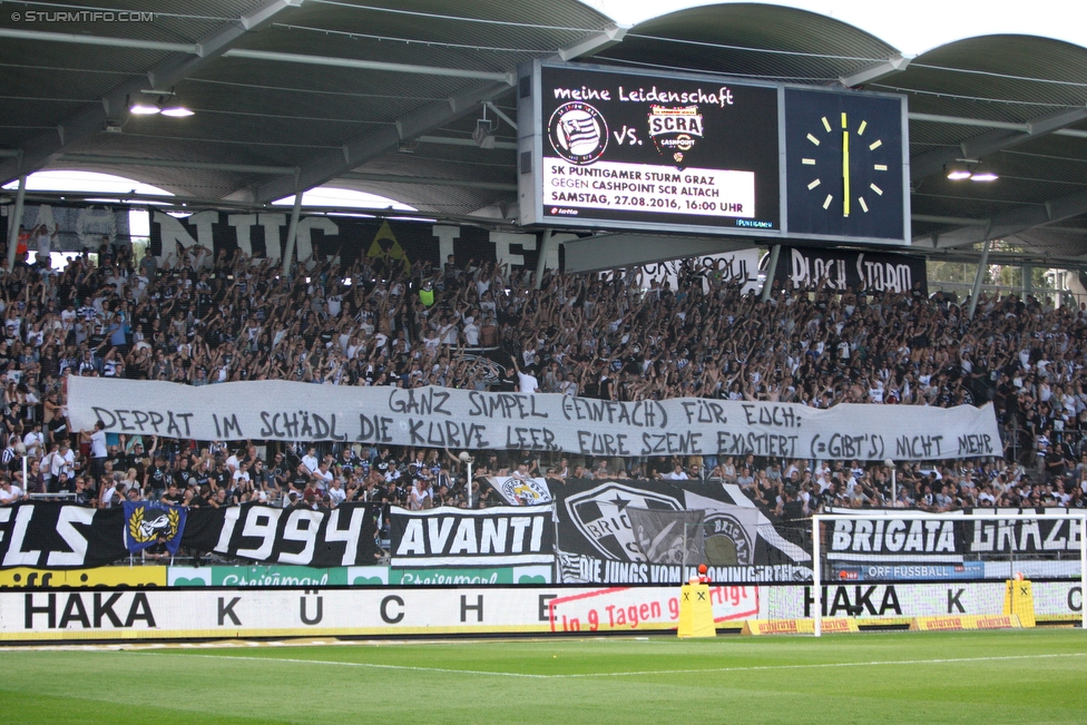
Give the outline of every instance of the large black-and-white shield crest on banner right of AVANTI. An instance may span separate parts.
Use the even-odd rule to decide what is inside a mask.
[[[627,516],[627,507],[652,511],[682,511],[678,499],[608,481],[566,499],[566,510],[578,531],[609,559],[645,561]]]

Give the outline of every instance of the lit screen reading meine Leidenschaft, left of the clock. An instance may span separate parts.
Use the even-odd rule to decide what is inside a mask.
[[[778,228],[777,89],[642,80],[542,67],[544,216]]]

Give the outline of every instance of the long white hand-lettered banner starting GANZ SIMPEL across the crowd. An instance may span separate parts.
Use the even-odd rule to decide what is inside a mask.
[[[845,460],[1000,453],[991,404],[943,409],[676,398],[639,402],[449,388],[284,381],[189,386],[70,378],[76,430],[197,440],[341,441],[585,455],[774,455]]]

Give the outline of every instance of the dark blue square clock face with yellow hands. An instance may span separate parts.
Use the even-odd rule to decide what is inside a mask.
[[[785,90],[789,232],[903,241],[902,102]]]

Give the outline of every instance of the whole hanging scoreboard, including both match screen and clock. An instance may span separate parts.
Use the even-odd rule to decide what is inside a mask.
[[[861,94],[866,107],[851,127],[844,120],[853,108],[851,94],[825,89],[786,92],[781,84],[544,61],[527,63],[518,76],[525,225],[909,243],[901,97]],[[826,109],[841,119],[825,118]],[[862,127],[865,114],[872,120]],[[842,202],[861,187],[860,180],[850,186],[849,155],[834,149],[845,143],[842,133],[852,131],[856,155],[869,140],[858,138],[858,129],[874,129],[877,119],[881,128],[898,124],[894,134],[883,131],[881,151],[864,156],[868,166],[883,170],[855,174],[865,184],[879,183],[880,194],[863,190],[862,200],[844,205],[845,217],[853,209],[854,218],[839,218]],[[811,145],[812,129],[824,127],[833,133],[816,137],[822,148],[802,147]],[[790,128],[804,133],[790,136]],[[812,159],[817,168],[807,168]],[[809,193],[816,178],[820,193]],[[793,204],[791,189],[797,197]],[[887,215],[895,204],[894,214]]]

